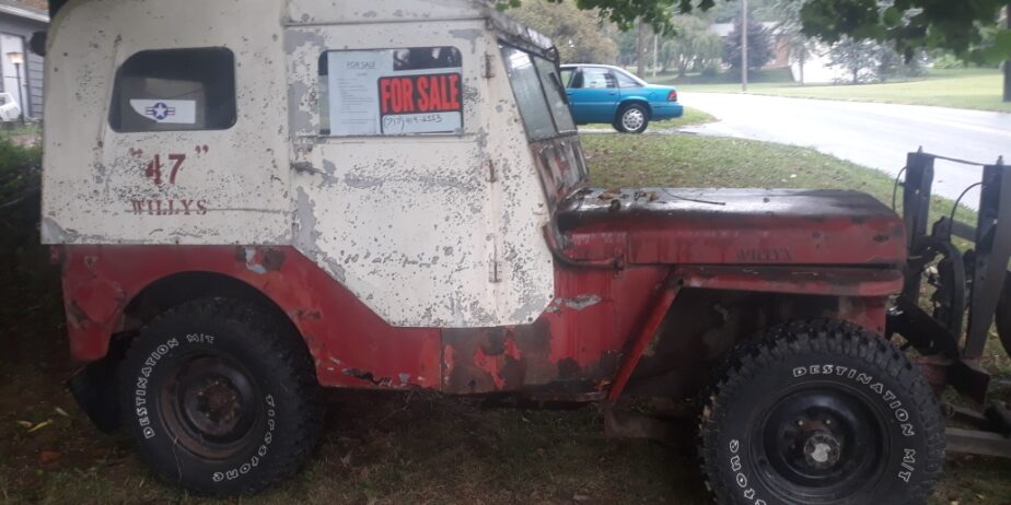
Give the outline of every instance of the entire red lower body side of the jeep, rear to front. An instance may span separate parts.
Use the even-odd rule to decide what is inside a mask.
[[[661,326],[662,321],[683,325],[670,321],[669,313],[682,286],[747,290],[754,282],[706,268],[638,266],[615,271],[557,266],[555,298],[532,324],[397,328],[291,247],[62,246],[57,250],[71,350],[81,361],[106,354],[111,337],[126,325],[125,309],[146,289],[177,274],[213,272],[259,291],[288,315],[305,339],[325,386],[450,394],[526,391],[556,399],[616,398],[640,357],[652,353],[658,336],[683,338],[688,344],[694,337]],[[875,284],[875,277],[890,274],[868,270],[850,272],[847,282],[856,289],[822,281],[814,293],[810,280],[791,284],[786,278],[777,285],[783,293],[838,297],[825,315],[882,331],[886,297],[881,293],[888,290]],[[756,272],[760,278],[760,269]],[[861,282],[870,287],[861,290]]]

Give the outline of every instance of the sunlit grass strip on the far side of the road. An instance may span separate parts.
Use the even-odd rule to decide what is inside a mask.
[[[934,70],[930,75],[906,82],[884,84],[812,84],[759,82],[748,85],[748,93],[800,98],[882,102],[890,104],[934,105],[978,110],[1011,113],[1011,103],[1002,102],[1003,77],[998,70]],[[740,92],[734,83],[681,84],[683,93]]]

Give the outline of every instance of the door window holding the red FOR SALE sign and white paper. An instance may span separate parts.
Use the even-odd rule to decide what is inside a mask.
[[[319,79],[324,134],[463,130],[463,71],[454,47],[329,51]]]

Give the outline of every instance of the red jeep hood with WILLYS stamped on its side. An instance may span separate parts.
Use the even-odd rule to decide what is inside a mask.
[[[789,189],[583,189],[556,213],[572,259],[628,263],[899,265],[902,220],[870,195]]]

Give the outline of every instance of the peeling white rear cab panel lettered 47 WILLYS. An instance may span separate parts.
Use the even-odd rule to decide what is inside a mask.
[[[290,242],[288,127],[278,119],[286,108],[282,10],[278,0],[82,0],[61,10],[46,58],[43,215],[50,225],[43,240]],[[234,54],[235,126],[113,131],[108,105],[119,66],[141,50],[193,47],[228,47]],[[146,176],[147,164],[158,155],[167,179],[173,154],[186,156],[175,184],[155,185]],[[135,202],[144,202],[140,211]]]

